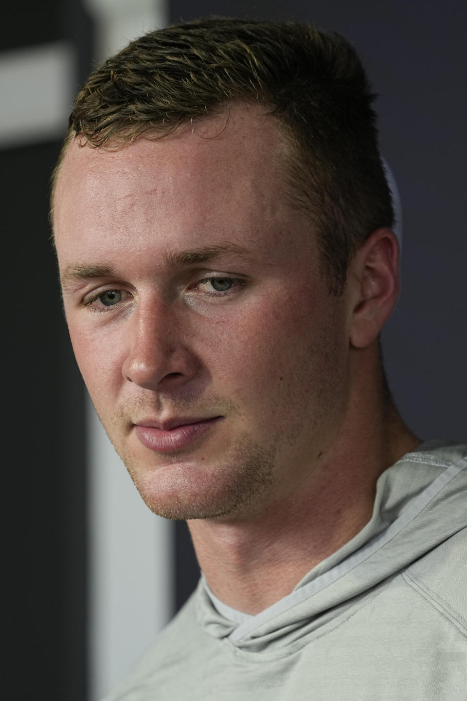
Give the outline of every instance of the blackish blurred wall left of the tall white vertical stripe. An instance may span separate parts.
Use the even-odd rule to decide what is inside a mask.
[[[0,50],[69,40],[87,73],[87,26],[71,0],[10,4]],[[48,181],[61,140],[57,134],[53,142],[0,151],[8,699],[87,695],[84,391],[48,224]]]

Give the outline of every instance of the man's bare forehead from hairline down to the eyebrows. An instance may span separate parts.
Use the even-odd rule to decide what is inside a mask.
[[[54,212],[60,269],[71,284],[94,275],[93,266],[115,269],[130,251],[137,266],[157,254],[162,271],[201,262],[200,250],[208,261],[204,249],[227,242],[264,265],[272,250],[300,245],[291,231],[306,227],[284,196],[276,120],[259,108],[223,117],[119,151],[71,144]]]

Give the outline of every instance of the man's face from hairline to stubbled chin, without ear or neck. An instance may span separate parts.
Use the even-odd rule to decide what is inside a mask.
[[[349,393],[346,296],[288,205],[277,123],[245,107],[224,125],[73,143],[55,193],[78,365],[144,501],[172,518],[256,517],[300,489]],[[213,417],[193,437],[155,426]]]

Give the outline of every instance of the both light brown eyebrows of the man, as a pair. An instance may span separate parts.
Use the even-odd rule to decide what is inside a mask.
[[[252,257],[251,252],[246,248],[239,246],[237,243],[228,242],[205,246],[197,250],[166,252],[162,254],[162,259],[167,268],[173,269],[197,263],[206,263],[223,253]],[[118,277],[118,273],[108,265],[70,265],[60,275],[60,283],[63,290],[68,290],[74,283],[84,283],[86,280],[95,278],[116,277]]]

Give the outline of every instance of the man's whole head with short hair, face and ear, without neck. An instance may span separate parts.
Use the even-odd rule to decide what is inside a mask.
[[[133,42],[78,96],[53,197],[64,308],[155,512],[258,514],[368,429],[397,245],[366,93],[342,39],[219,20]]]

